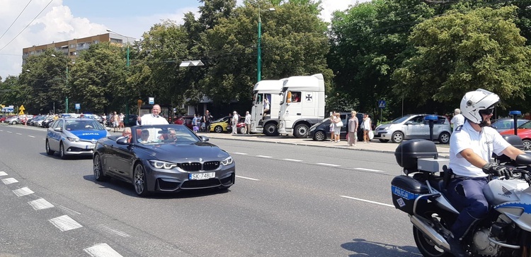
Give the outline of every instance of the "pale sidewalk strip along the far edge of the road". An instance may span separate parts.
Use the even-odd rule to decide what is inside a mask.
[[[356,146],[348,146],[347,141],[343,140],[339,143],[332,143],[330,141],[314,141],[312,138],[295,138],[290,136],[265,136],[263,134],[236,134],[230,133],[198,133],[198,136],[207,136],[208,138],[219,138],[225,140],[245,140],[245,141],[258,141],[267,143],[283,143],[290,145],[306,145],[314,147],[326,147],[326,148],[338,148],[346,150],[360,150],[379,153],[394,153],[397,143],[381,143],[378,140],[373,139],[370,143],[358,142]],[[437,151],[440,157],[448,158],[450,155],[450,145],[441,145],[435,143]]]

